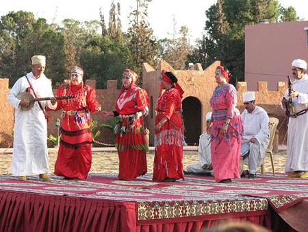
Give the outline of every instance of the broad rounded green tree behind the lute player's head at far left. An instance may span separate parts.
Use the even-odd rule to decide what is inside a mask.
[[[0,76],[17,78],[31,70],[31,56],[47,57],[45,74],[53,83],[64,76],[64,38],[45,19],[35,19],[31,12],[9,12],[0,21]]]

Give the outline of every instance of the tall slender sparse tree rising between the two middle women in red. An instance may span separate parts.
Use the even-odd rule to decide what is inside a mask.
[[[143,62],[154,65],[157,56],[157,41],[146,21],[149,2],[151,0],[136,0],[136,9],[130,14],[131,26],[127,30],[128,46],[138,74],[141,74]]]

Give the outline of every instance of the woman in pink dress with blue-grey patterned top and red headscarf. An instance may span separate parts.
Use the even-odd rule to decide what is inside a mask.
[[[232,178],[240,178],[243,126],[240,111],[235,108],[237,92],[229,84],[229,76],[224,67],[216,68],[218,86],[210,99],[213,109],[208,127],[208,133],[211,133],[211,163],[215,180],[219,183],[230,183]]]

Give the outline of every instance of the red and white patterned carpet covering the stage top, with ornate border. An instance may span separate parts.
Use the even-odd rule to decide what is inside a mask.
[[[258,175],[232,183],[216,183],[213,177],[185,176],[175,183],[153,182],[146,174],[137,181],[119,181],[116,174],[90,174],[87,181],[52,176],[42,182],[37,176],[18,181],[0,176],[0,191],[27,192],[102,200],[136,202],[137,220],[159,220],[223,213],[262,213],[270,204],[281,211],[308,198],[308,179],[283,175]]]

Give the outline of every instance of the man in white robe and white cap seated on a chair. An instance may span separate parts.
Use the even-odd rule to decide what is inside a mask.
[[[242,113],[244,135],[242,143],[248,143],[249,156],[248,178],[255,178],[257,166],[263,163],[263,158],[268,148],[270,132],[268,130],[268,114],[263,108],[255,105],[255,92],[243,93],[245,110]],[[245,161],[247,160],[244,160]]]

